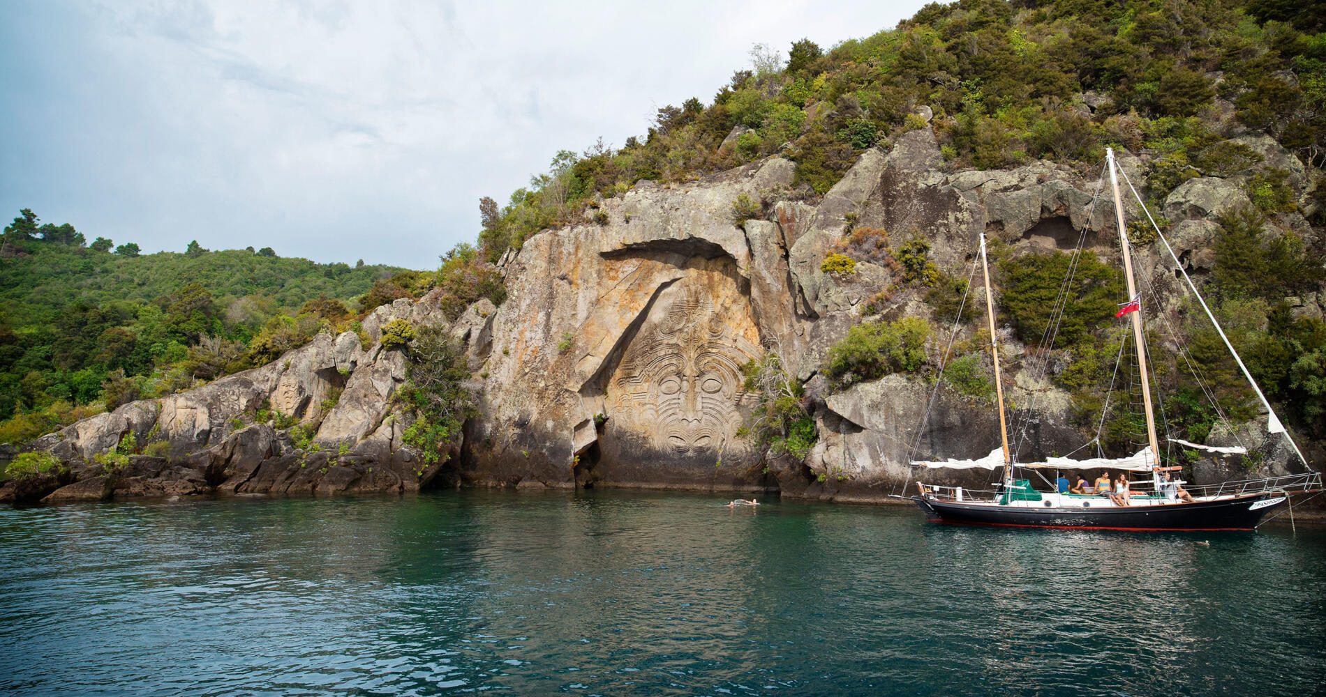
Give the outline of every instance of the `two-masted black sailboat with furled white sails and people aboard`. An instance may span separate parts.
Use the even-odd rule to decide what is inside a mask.
[[[977,460],[914,460],[912,465],[926,468],[953,468],[953,469],[989,469],[1002,470],[1002,478],[997,489],[992,492],[977,492],[961,486],[939,486],[926,482],[916,482],[918,493],[900,496],[915,501],[931,519],[949,523],[971,525],[998,525],[998,526],[1032,526],[1032,527],[1069,527],[1069,529],[1111,529],[1111,530],[1250,530],[1261,519],[1284,505],[1290,496],[1322,490],[1319,472],[1303,474],[1289,474],[1282,477],[1269,477],[1260,480],[1232,481],[1212,486],[1192,486],[1184,489],[1187,484],[1177,478],[1180,466],[1164,466],[1160,458],[1159,439],[1156,436],[1155,415],[1151,404],[1151,390],[1147,378],[1146,346],[1142,329],[1142,303],[1132,274],[1132,258],[1130,254],[1127,227],[1123,220],[1123,205],[1119,196],[1119,180],[1116,172],[1120,171],[1114,158],[1114,150],[1106,148],[1106,167],[1110,171],[1110,186],[1114,191],[1114,209],[1119,228],[1120,248],[1123,250],[1123,270],[1127,281],[1127,302],[1122,303],[1119,315],[1131,314],[1132,338],[1136,345],[1138,371],[1143,407],[1146,409],[1147,445],[1131,457],[1106,458],[1094,457],[1089,460],[1073,460],[1069,457],[1049,457],[1044,462],[1016,462],[1009,452],[1008,419],[1004,408],[1004,387],[1000,380],[998,360],[998,333],[994,326],[994,299],[989,284],[989,262],[985,254],[985,236],[980,239],[980,262],[985,277],[985,306],[991,333],[991,352],[994,359],[994,390],[998,403],[998,423],[1001,448]],[[1127,180],[1127,174],[1123,175]],[[1132,183],[1128,182],[1132,188]],[[1134,196],[1136,189],[1132,188]],[[1138,203],[1142,204],[1140,196]],[[1146,204],[1142,204],[1146,211]],[[1151,219],[1151,213],[1147,212]],[[1180,272],[1177,256],[1170,242],[1164,240],[1155,220],[1152,227],[1160,235],[1166,249],[1174,257]],[[1269,415],[1268,431],[1282,433],[1288,439],[1294,453],[1306,464],[1302,452],[1293,441],[1293,437],[1276,416],[1276,411],[1257,387],[1252,374],[1244,366],[1238,352],[1220,329],[1215,315],[1207,306],[1196,285],[1188,278],[1188,286],[1196,294],[1207,317],[1216,326],[1220,338],[1233,354],[1244,376],[1252,383],[1253,391],[1261,399]],[[1187,441],[1176,440],[1180,444],[1193,447]],[[1209,448],[1228,453],[1245,452],[1242,448]],[[1040,492],[1032,486],[1029,478],[1014,478],[1017,470],[1122,470],[1142,474],[1140,481],[1128,481],[1124,493],[1086,492],[1073,493],[1059,490]],[[1174,474],[1171,474],[1174,473]]]

